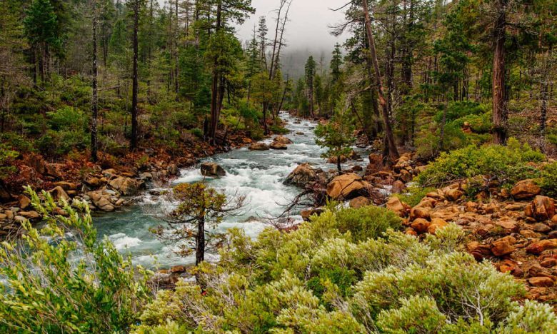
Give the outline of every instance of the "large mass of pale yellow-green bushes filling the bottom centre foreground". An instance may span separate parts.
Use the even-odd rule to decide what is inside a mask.
[[[180,280],[146,306],[135,333],[490,333],[557,326],[545,306],[513,302],[525,291],[511,275],[458,251],[458,226],[423,243],[392,230],[366,239],[354,237],[361,226],[346,217],[381,212],[345,210],[353,212],[328,210],[288,233],[267,228],[255,241],[231,230],[219,263],[197,269],[204,293]]]

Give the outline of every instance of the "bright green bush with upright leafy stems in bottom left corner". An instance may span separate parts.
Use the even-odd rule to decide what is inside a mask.
[[[64,202],[58,208],[49,193],[42,194],[46,201],[41,203],[36,193],[27,191],[46,224],[38,230],[26,221],[21,240],[1,243],[0,331],[129,329],[149,302],[148,273],[122,258],[108,239],[97,241],[86,204]],[[59,209],[68,216],[59,216]]]

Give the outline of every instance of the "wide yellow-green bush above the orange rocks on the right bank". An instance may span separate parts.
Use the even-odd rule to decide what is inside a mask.
[[[523,178],[535,178],[538,169],[531,162],[543,161],[545,156],[528,144],[510,139],[508,146],[468,146],[450,153],[441,153],[430,166],[418,175],[421,186],[442,186],[476,176],[495,178],[502,186],[509,186]]]

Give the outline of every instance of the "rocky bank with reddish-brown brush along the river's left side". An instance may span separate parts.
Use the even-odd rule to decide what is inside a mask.
[[[41,221],[24,193],[26,185],[50,193],[55,200],[84,200],[93,211],[111,212],[131,204],[147,184],[166,183],[179,175],[179,168],[194,166],[199,158],[253,143],[244,134],[228,140],[226,146],[196,141],[174,155],[164,148],[147,148],[121,158],[104,155],[99,163],[89,162],[85,154],[61,161],[47,161],[35,153],[21,156],[15,161],[17,173],[0,183],[0,237],[16,233],[26,219]]]

